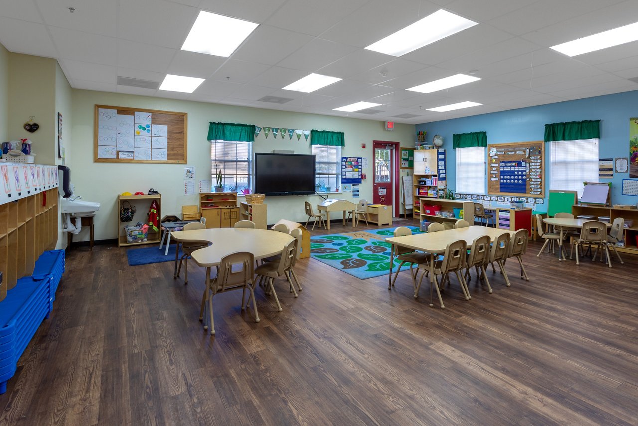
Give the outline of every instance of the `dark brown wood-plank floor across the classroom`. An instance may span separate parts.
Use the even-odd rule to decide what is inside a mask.
[[[396,221],[395,225],[408,222]],[[412,224],[412,222],[410,222]],[[359,229],[367,229],[362,225]],[[352,232],[341,224],[330,232]],[[126,250],[68,253],[54,312],[0,395],[8,425],[635,424],[638,256],[610,270],[559,263],[530,242],[530,282],[494,294],[456,280],[446,309],[408,272],[358,280],[300,261],[284,311],[257,291],[215,297],[216,337],[198,321],[204,273],[189,285],[166,262],[130,267]]]

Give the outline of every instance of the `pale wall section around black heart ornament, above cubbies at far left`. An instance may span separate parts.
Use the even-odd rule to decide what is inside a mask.
[[[8,137],[31,139],[31,150],[40,164],[56,164],[56,66],[55,59],[9,54]],[[30,116],[40,125],[34,133],[23,127]]]

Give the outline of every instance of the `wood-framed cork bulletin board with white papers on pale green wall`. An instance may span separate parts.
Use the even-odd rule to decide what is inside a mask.
[[[187,162],[188,114],[95,105],[94,162]]]

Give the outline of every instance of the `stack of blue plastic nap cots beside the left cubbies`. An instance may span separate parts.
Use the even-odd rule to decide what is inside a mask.
[[[20,356],[52,311],[63,273],[64,250],[44,252],[33,275],[20,278],[0,302],[0,394],[6,392]]]

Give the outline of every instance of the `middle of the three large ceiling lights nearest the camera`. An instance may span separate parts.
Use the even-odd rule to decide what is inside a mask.
[[[392,56],[403,56],[475,25],[478,25],[477,22],[445,10],[437,10],[432,15],[369,45],[366,49]]]

